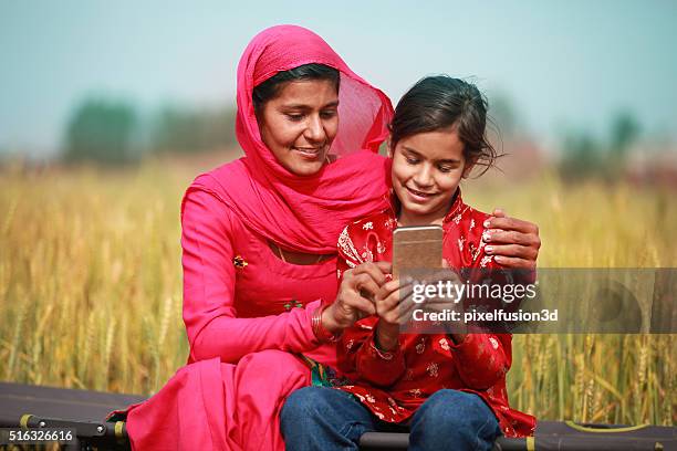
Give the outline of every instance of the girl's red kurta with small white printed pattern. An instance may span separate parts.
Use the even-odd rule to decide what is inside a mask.
[[[483,251],[488,214],[462,202],[460,191],[442,224],[442,254],[450,268],[501,268]],[[392,210],[347,226],[338,239],[338,279],[360,263],[392,261]],[[512,360],[508,334],[469,334],[456,344],[445,334],[399,336],[400,346],[382,353],[374,344],[378,318],[346,329],[338,343],[340,368],[353,385],[336,387],[356,396],[384,421],[407,420],[435,391],[449,388],[479,395],[507,437],[532,436],[535,418],[511,409],[506,374]]]

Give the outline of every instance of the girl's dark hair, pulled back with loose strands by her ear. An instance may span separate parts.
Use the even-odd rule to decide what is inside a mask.
[[[454,127],[464,143],[467,165],[483,166],[497,156],[487,139],[487,98],[471,83],[448,75],[419,80],[397,103],[390,124],[390,146],[406,137]]]

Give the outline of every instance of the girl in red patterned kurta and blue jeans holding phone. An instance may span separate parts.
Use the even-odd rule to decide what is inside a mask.
[[[450,268],[501,268],[482,240],[489,216],[465,204],[459,189],[475,166],[488,168],[496,158],[486,118],[481,93],[461,80],[427,77],[404,95],[389,138],[395,208],[344,229],[340,280],[361,264],[392,261],[398,226],[441,226]],[[288,448],[357,449],[362,433],[404,424],[410,450],[489,450],[500,433],[533,433],[535,419],[508,406],[510,336],[399,335],[404,290],[397,280],[381,285],[376,315],[344,332],[338,354],[347,384],[303,388],[288,399]]]

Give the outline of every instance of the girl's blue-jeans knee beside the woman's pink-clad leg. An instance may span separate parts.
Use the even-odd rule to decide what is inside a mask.
[[[280,416],[288,450],[357,450],[360,437],[376,430],[375,422],[351,395],[327,387],[294,391]]]

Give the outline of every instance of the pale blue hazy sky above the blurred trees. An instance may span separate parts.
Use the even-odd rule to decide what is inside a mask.
[[[479,4],[481,3],[481,4]],[[0,0],[0,149],[53,155],[90,95],[143,112],[235,102],[267,27],[315,31],[394,103],[418,78],[470,77],[543,143],[628,111],[677,139],[677,2]],[[2,150],[0,150],[2,151]]]

